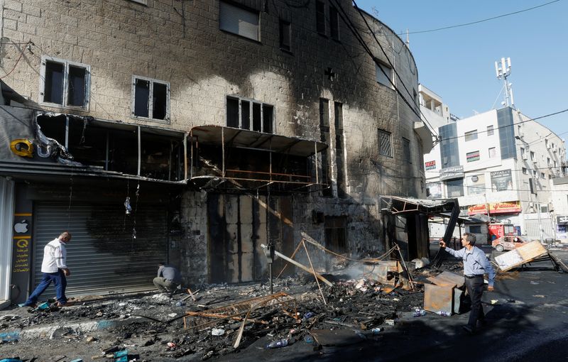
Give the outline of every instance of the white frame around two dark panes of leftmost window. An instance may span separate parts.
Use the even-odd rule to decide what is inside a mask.
[[[48,62],[55,63],[63,66],[63,79],[62,79],[62,96],[61,103],[48,102],[45,101],[45,87],[48,85],[48,79],[46,79],[46,68]],[[68,104],[69,102],[69,70],[70,67],[82,68],[85,71],[84,75],[84,95],[83,95],[83,106],[74,106]],[[40,68],[40,90],[39,90],[39,103],[45,106],[57,106],[67,109],[82,109],[89,110],[89,99],[90,99],[90,89],[91,89],[91,66],[81,62],[72,62],[70,60],[50,57],[48,55],[43,55],[41,57],[41,68]]]

